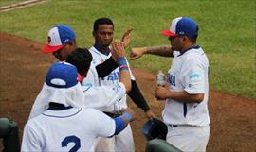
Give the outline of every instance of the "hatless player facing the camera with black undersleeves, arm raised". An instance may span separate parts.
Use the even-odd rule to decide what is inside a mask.
[[[126,33],[130,36],[130,31]],[[100,68],[102,62],[107,59],[111,59],[111,48],[109,45],[113,40],[114,24],[111,19],[99,18],[94,22],[93,36],[95,38],[95,44],[89,51],[91,52],[93,59],[88,76],[83,80],[83,84],[91,84],[93,86],[109,86],[119,82],[119,68],[117,64],[112,64],[107,68]],[[126,60],[127,61],[127,60]],[[110,71],[110,74],[102,74],[104,71]],[[132,77],[132,90],[128,93],[131,99],[135,102],[137,107],[145,111],[148,118],[155,117],[152,110],[150,110],[144,97],[140,93],[135,77],[130,73]],[[121,114],[120,110],[126,108],[126,95],[124,95],[120,102],[101,109],[104,113],[111,117],[117,117]],[[97,146],[97,151],[134,151],[134,140],[131,127],[128,125],[118,136],[108,139],[101,139]]]

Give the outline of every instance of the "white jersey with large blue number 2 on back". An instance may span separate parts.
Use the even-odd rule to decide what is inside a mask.
[[[27,122],[21,151],[94,151],[96,139],[115,129],[115,121],[99,110],[46,110]]]

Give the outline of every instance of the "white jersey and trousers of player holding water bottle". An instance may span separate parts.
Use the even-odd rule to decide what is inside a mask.
[[[183,151],[205,151],[210,136],[209,60],[200,46],[174,56],[168,71],[168,85],[175,92],[204,94],[200,103],[167,99],[162,112],[168,125],[167,142]]]

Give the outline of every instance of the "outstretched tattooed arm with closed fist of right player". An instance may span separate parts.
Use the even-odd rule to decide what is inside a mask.
[[[173,49],[171,45],[135,47],[131,49],[130,59],[138,59],[142,57],[144,54],[153,54],[162,57],[173,57]]]

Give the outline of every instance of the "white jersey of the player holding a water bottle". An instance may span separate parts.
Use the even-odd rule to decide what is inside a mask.
[[[196,127],[205,127],[210,124],[208,76],[209,60],[199,46],[174,57],[168,72],[169,88],[176,92],[204,93],[204,100],[201,103],[182,103],[167,99],[162,113],[166,124]]]

